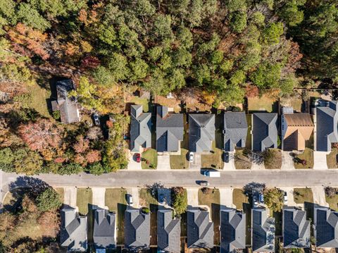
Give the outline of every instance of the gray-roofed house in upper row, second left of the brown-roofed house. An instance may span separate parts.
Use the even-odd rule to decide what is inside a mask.
[[[225,112],[223,118],[224,150],[233,152],[234,147],[245,147],[248,124],[244,112]]]

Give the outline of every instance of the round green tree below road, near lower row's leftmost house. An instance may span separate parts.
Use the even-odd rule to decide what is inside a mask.
[[[39,211],[55,211],[61,204],[60,195],[51,187],[37,196],[37,208]]]

